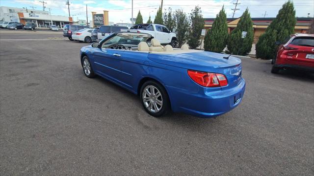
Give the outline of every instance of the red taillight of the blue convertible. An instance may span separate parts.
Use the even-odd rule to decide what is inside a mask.
[[[204,87],[215,88],[228,85],[228,80],[223,74],[195,70],[187,70],[187,74],[193,81]]]

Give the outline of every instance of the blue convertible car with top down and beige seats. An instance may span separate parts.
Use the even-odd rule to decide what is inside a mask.
[[[145,33],[115,32],[82,47],[80,62],[88,78],[99,75],[138,94],[153,116],[172,110],[214,117],[239,105],[245,89],[240,59],[162,46]]]

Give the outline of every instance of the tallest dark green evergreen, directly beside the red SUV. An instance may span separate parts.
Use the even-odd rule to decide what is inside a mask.
[[[256,44],[256,56],[262,59],[274,59],[278,46],[276,41],[283,42],[294,33],[296,23],[293,2],[288,0],[279,10],[277,17],[267,27]]]

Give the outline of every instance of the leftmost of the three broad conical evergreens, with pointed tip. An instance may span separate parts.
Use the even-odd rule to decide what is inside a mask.
[[[224,6],[216,15],[211,29],[207,32],[204,39],[205,51],[222,52],[226,47],[228,39],[227,15]]]

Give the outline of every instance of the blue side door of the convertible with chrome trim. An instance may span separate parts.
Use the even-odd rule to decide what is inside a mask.
[[[95,48],[95,72],[121,85],[121,56],[124,50]]]

